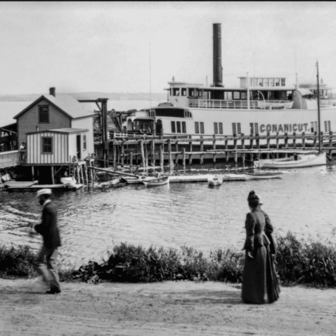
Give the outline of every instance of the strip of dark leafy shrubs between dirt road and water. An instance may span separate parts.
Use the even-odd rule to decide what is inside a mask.
[[[183,246],[143,248],[120,243],[97,263],[89,261],[79,269],[59,265],[60,280],[152,283],[163,280],[212,280],[241,283],[244,252],[215,250],[209,256]],[[0,276],[37,276],[35,256],[27,246],[0,247]],[[282,285],[336,287],[336,248],[330,242],[304,241],[291,232],[278,237],[276,269]]]

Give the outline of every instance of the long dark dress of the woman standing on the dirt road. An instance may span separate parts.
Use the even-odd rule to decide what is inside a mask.
[[[248,303],[271,303],[279,298],[280,287],[269,242],[265,237],[265,215],[256,208],[246,216],[245,264],[241,298]],[[250,256],[248,255],[250,254]],[[252,256],[252,257],[251,257]]]

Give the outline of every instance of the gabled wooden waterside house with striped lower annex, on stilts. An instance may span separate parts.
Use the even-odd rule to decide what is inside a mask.
[[[94,154],[93,115],[73,97],[56,96],[55,88],[50,88],[49,95],[42,95],[14,117],[19,143],[26,143],[21,165],[31,167],[32,179],[55,184],[77,173],[77,181],[80,175],[84,180],[82,168],[86,170],[86,160],[91,163]]]

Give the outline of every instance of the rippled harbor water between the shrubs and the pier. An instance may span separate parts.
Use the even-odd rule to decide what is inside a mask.
[[[205,171],[192,171],[192,173]],[[220,171],[217,171],[217,173]],[[208,173],[208,171],[206,171]],[[130,185],[119,189],[56,192],[62,235],[60,259],[76,267],[101,261],[121,242],[149,247],[191,246],[204,251],[242,248],[246,198],[250,190],[263,197],[279,235],[335,241],[336,167],[284,171],[283,178],[206,183],[171,183],[161,187]],[[0,191],[0,237],[5,245],[29,245],[40,236],[29,224],[40,219],[34,193]]]

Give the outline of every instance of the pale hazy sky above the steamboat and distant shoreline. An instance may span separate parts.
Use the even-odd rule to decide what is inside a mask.
[[[221,23],[223,82],[320,78],[336,88],[336,3],[307,1],[0,1],[0,95],[163,93],[213,82]]]

